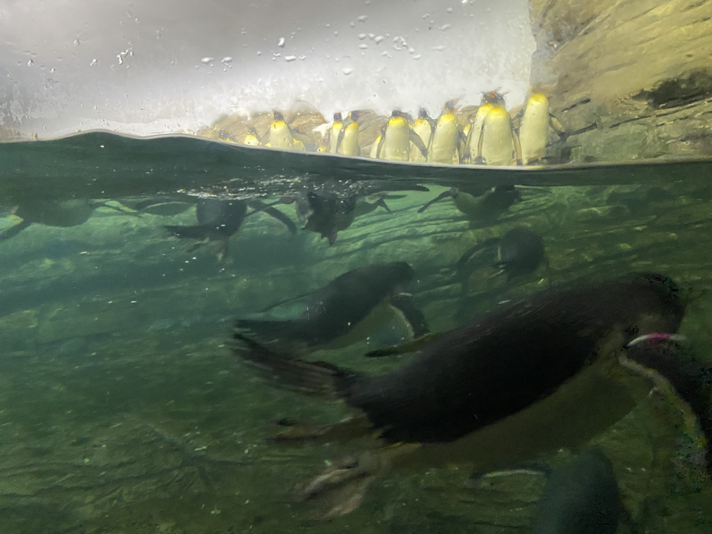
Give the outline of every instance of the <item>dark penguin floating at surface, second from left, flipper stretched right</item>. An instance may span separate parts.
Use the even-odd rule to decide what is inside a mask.
[[[248,201],[245,200],[199,199],[195,210],[198,219],[197,225],[164,226],[164,228],[179,239],[199,241],[189,249],[190,251],[194,251],[201,245],[211,244],[218,262],[226,263],[229,239],[245,221],[248,215],[247,207]],[[267,214],[285,224],[292,234],[296,233],[297,229],[294,223],[281,211],[269,206],[261,206],[261,208],[259,211],[266,211]]]

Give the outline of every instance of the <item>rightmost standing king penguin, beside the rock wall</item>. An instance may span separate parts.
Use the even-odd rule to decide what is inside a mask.
[[[515,117],[523,164],[538,162],[544,157],[549,140],[549,128],[564,138],[561,122],[549,111],[549,100],[543,93],[532,93]]]

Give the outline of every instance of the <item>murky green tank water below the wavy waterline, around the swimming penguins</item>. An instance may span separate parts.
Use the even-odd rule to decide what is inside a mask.
[[[553,283],[661,271],[698,297],[681,328],[712,365],[712,184],[709,162],[615,167],[467,169],[368,162],[229,147],[187,137],[132,140],[86,134],[0,145],[0,202],[110,199],[178,189],[260,192],[375,179],[422,184],[358,217],[333,246],[290,236],[266,215],[231,238],[231,263],[190,252],[162,226],[194,224],[194,210],[135,216],[98,207],[66,228],[33,224],[0,242],[0,518],[13,533],[514,533],[527,532],[543,478],[467,483],[466,466],[394,471],[355,512],[320,522],[294,502],[295,483],[357,449],[268,444],[281,417],[331,422],[345,407],[272,387],[226,346],[231,318],[318,288],[376,261],[407,261],[410,292],[432,330],[466,321],[448,270],[467,248],[513,226],[545,241]],[[348,180],[347,184],[333,180]],[[451,185],[546,186],[494,224],[468,221],[452,202],[417,208]],[[216,185],[217,184],[217,185]],[[654,194],[648,194],[651,188]],[[279,206],[295,219],[292,206]],[[12,224],[0,221],[1,229]],[[469,280],[468,313],[548,286],[543,268],[506,283],[483,265]],[[387,326],[377,339],[399,335]],[[384,372],[362,343],[323,355]],[[712,531],[712,489],[676,468],[674,422],[643,403],[597,436],[633,517],[649,533]],[[679,437],[679,436],[678,436]],[[675,446],[672,446],[675,445]],[[561,464],[573,454],[543,458]],[[620,532],[627,532],[622,526]]]

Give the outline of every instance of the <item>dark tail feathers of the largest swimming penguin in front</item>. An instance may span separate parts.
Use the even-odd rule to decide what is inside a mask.
[[[275,379],[280,387],[303,394],[342,399],[361,377],[357,372],[328,362],[307,362],[276,352],[239,332],[234,333],[232,348],[236,356]]]

